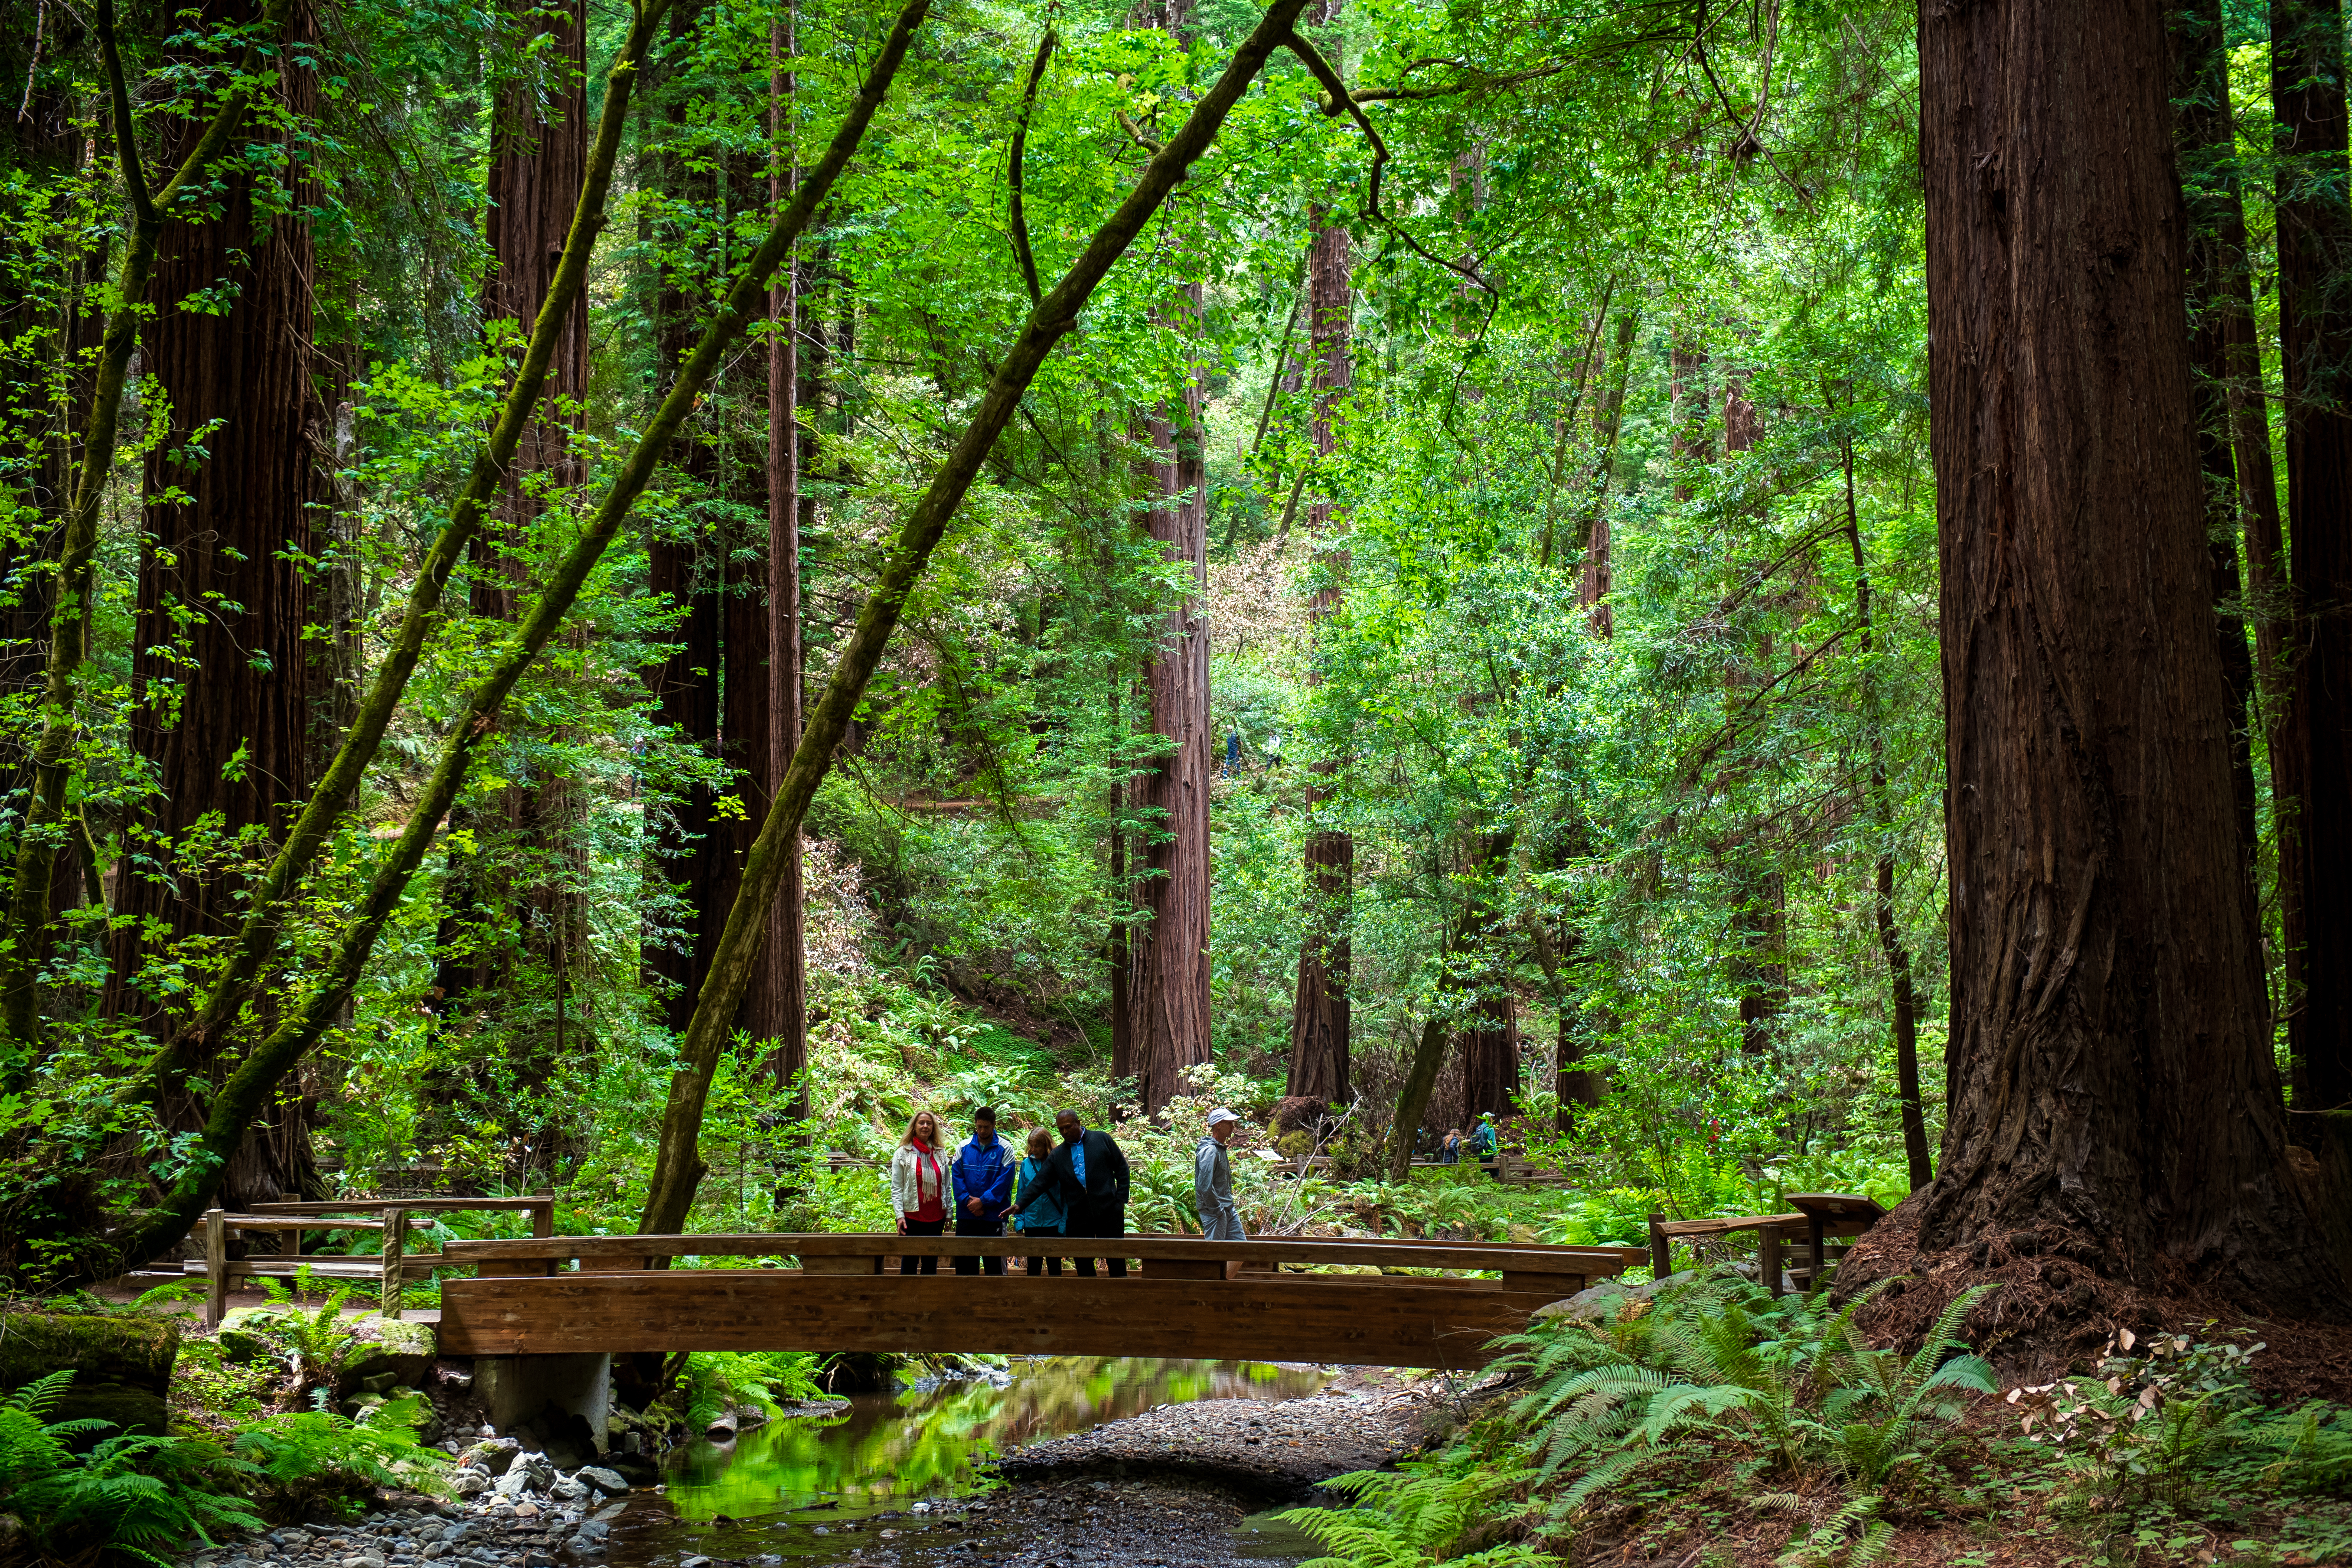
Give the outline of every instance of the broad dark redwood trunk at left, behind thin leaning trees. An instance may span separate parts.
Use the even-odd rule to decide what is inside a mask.
[[[207,5],[202,24],[256,12],[226,0]],[[294,7],[287,35],[315,38],[308,5]],[[315,113],[318,78],[287,68],[280,101]],[[200,125],[160,122],[169,146],[151,167],[172,167]],[[278,150],[301,146],[287,132]],[[219,216],[167,226],[155,259],[143,355],[172,404],[172,435],[146,468],[132,654],[132,731],[155,797],[129,827],[106,997],[118,1018],[151,1027],[165,1025],[172,994],[191,992],[148,983],[141,966],[186,938],[235,931],[233,865],[273,844],[310,792],[318,710],[332,701],[327,672],[313,670],[325,646],[303,637],[322,618],[306,567],[320,543],[313,451],[332,440],[310,386],[310,228],[299,216],[315,200],[301,165],[268,190],[233,181]],[[202,456],[188,444],[200,430]],[[219,1072],[209,1056],[191,1063],[195,1093],[158,1107],[167,1131],[202,1126],[200,1086]],[[230,1161],[223,1204],[275,1199],[308,1180],[303,1105],[287,1098],[278,1112]]]

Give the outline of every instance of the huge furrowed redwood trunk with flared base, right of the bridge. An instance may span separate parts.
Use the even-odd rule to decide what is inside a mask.
[[[1985,1307],[2018,1345],[2096,1340],[2117,1281],[2345,1309],[2239,898],[2164,49],[2150,0],[1919,14],[1950,1110],[1839,1291],[1929,1269],[1917,1324],[2039,1251]]]

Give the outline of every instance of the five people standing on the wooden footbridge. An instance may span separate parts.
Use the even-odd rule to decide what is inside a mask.
[[[1192,1152],[1192,1208],[1200,1234],[1211,1241],[1242,1241],[1242,1215],[1232,1206],[1232,1164],[1225,1147],[1242,1124],[1230,1110],[1209,1112],[1209,1131]],[[898,1211],[901,1237],[946,1234],[955,1220],[957,1237],[1002,1237],[1007,1225],[1030,1239],[1068,1237],[1073,1241],[1127,1234],[1127,1154],[1117,1140],[1089,1128],[1075,1110],[1054,1112],[1054,1133],[1030,1128],[1023,1150],[997,1135],[995,1107],[971,1112],[971,1138],[953,1154],[941,1150],[938,1117],[915,1112],[906,1138],[889,1161],[891,1208]],[[1077,1274],[1094,1279],[1094,1258],[1075,1255]],[[1061,1274],[1061,1258],[1030,1258],[1030,1272],[1044,1262],[1047,1274]],[[1124,1258],[1108,1258],[1110,1276],[1127,1276]],[[901,1258],[901,1274],[936,1274],[938,1258]],[[1002,1274],[1002,1258],[957,1258],[957,1274]]]

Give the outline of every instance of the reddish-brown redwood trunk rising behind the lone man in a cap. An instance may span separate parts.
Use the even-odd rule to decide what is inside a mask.
[[[1190,287],[1183,329],[1200,320]],[[1148,726],[1174,743],[1143,769],[1131,799],[1143,825],[1134,900],[1143,924],[1129,947],[1127,1006],[1143,1110],[1183,1088],[1188,1067],[1209,1060],[1209,484],[1202,465],[1200,376],[1150,421],[1155,449],[1150,536],[1185,562],[1192,592],[1167,611],[1160,644],[1143,663]]]

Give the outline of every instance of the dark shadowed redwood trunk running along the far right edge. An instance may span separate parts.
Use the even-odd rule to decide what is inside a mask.
[[[2291,863],[2300,870],[2303,922],[2303,999],[2288,1013],[2288,1048],[2296,1110],[2324,1112],[2352,1105],[2352,205],[2343,7],[2274,0],[2270,47],[2296,597],[2286,748],[2298,771]],[[2298,1135],[2314,1147],[2324,1147],[2328,1126],[2317,1114],[2298,1117]],[[2345,1140],[2328,1164],[2338,1180],[2352,1180]]]

